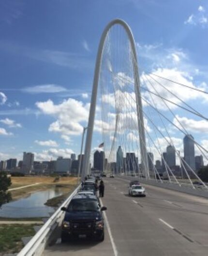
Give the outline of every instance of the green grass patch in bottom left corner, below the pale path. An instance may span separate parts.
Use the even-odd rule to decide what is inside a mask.
[[[24,247],[22,237],[34,236],[34,225],[0,225],[0,255],[18,253]]]

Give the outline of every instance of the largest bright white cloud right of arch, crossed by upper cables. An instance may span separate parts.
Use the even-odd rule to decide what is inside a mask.
[[[204,88],[202,87],[196,87],[193,85],[193,81],[192,81],[192,77],[190,77],[187,73],[185,72],[181,72],[178,71],[177,69],[157,69],[155,71],[152,72],[153,75],[151,75],[152,79],[150,76],[147,76],[145,74],[143,74],[141,76],[141,81],[142,81],[142,85],[143,86],[147,86],[148,90],[159,94],[160,96],[162,96],[165,99],[168,99],[172,102],[174,102],[175,104],[179,104],[181,105],[181,100],[187,102],[187,101],[191,101],[191,100],[196,100],[196,99],[201,99],[204,101],[208,101],[208,95],[201,93],[199,91],[194,91],[190,88],[186,88],[186,87],[182,87],[176,83],[167,81],[163,78],[159,78],[155,75],[159,75],[162,76],[164,78],[173,80],[175,82],[187,85],[191,88],[197,88],[200,90],[204,90]],[[174,95],[172,95],[170,92],[168,92],[167,90],[165,90],[160,84],[162,84],[165,88],[167,88],[168,90],[170,90],[173,94],[175,94],[177,97],[175,97]],[[154,90],[154,89],[155,90]],[[165,104],[163,103],[163,101],[156,95],[151,95],[153,101],[155,102],[156,106],[161,109],[161,110],[167,110],[167,107],[165,106]],[[152,100],[151,97],[149,95],[149,92],[144,92],[144,97],[152,104]],[[173,105],[171,103],[166,102],[166,104],[171,108],[171,109],[175,109],[177,108],[176,105]],[[153,105],[153,104],[152,104]]]

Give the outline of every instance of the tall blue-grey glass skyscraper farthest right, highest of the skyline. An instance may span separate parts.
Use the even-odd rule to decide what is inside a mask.
[[[195,153],[194,153],[194,142],[193,142],[193,136],[186,135],[183,138],[183,148],[184,148],[184,160],[185,162],[193,169],[195,170]],[[186,170],[189,172],[191,171],[189,166],[186,165]]]

